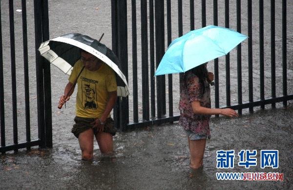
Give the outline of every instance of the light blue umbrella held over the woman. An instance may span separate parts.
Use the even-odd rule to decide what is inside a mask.
[[[183,73],[228,54],[247,36],[219,26],[206,26],[176,38],[169,45],[155,76]]]

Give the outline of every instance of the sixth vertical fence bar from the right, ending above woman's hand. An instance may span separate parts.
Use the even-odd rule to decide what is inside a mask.
[[[225,27],[229,28],[229,0],[225,0]],[[226,55],[226,104],[231,106],[230,94],[230,53]]]

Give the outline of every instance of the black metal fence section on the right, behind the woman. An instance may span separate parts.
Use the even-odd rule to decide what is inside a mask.
[[[237,100],[233,98],[234,102],[231,102],[231,62],[230,62],[230,54],[227,54],[225,57],[225,70],[224,75],[226,79],[225,83],[225,93],[221,93],[219,89],[219,58],[214,60],[213,72],[215,76],[215,86],[214,86],[214,107],[215,108],[224,108],[229,107],[234,110],[238,110],[239,114],[242,114],[243,109],[248,108],[250,113],[253,113],[254,107],[260,106],[261,109],[265,109],[265,105],[271,104],[272,108],[275,108],[277,102],[283,102],[283,106],[287,106],[287,101],[293,99],[293,94],[288,94],[287,92],[287,1],[286,0],[275,0],[265,1],[258,0],[209,0],[212,2],[212,5],[208,4],[206,0],[190,0],[189,10],[187,6],[183,8],[182,0],[112,0],[112,47],[113,50],[117,53],[120,61],[122,62],[123,68],[125,72],[132,73],[131,79],[132,81],[132,92],[131,101],[128,103],[128,99],[120,99],[120,108],[117,109],[117,112],[120,113],[119,117],[115,119],[119,121],[120,127],[122,130],[137,128],[147,125],[153,124],[161,124],[163,122],[173,122],[179,119],[179,115],[174,116],[173,113],[173,92],[178,92],[178,86],[173,88],[174,84],[179,83],[179,81],[174,81],[172,75],[165,76],[157,76],[154,78],[155,67],[158,66],[161,58],[163,57],[167,46],[170,44],[172,37],[177,38],[183,35],[184,22],[189,21],[190,26],[189,30],[194,30],[195,28],[195,13],[201,12],[201,27],[207,25],[207,18],[212,18],[212,25],[218,25],[218,14],[224,13],[224,19],[222,18],[222,25],[224,27],[230,28],[230,20],[231,18],[236,18],[234,24],[235,30],[238,32],[242,32],[242,27],[246,28],[248,38],[248,44],[246,44],[246,53],[243,53],[243,45],[239,44],[236,48],[235,59],[236,59],[236,73],[237,75],[234,78],[234,81],[237,81]],[[257,2],[257,11],[255,11],[255,3]],[[186,5],[186,1],[184,1],[184,5]],[[221,4],[220,4],[221,3]],[[242,5],[245,3],[245,5]],[[265,4],[264,4],[265,3]],[[137,10],[137,5],[140,5]],[[252,4],[254,5],[252,7]],[[218,9],[218,6],[221,5],[221,9]],[[270,12],[266,13],[270,15],[270,22],[264,23],[264,5],[266,7],[270,7]],[[276,95],[276,57],[275,57],[275,5],[281,7],[279,11],[282,12],[281,19],[277,18],[277,23],[281,24],[281,59],[277,60],[277,66],[281,64],[282,69],[282,95]],[[212,6],[212,11],[207,11],[207,7]],[[131,7],[131,8],[129,8]],[[171,9],[172,7],[172,9]],[[233,8],[231,10],[231,7]],[[172,12],[175,9],[174,12]],[[196,10],[196,11],[195,11]],[[254,10],[252,12],[252,10]],[[186,12],[189,12],[188,18],[186,16]],[[233,14],[234,16],[230,16]],[[252,18],[252,15],[257,14],[257,19]],[[138,16],[139,15],[139,16]],[[243,17],[245,15],[245,17]],[[185,18],[183,19],[183,16]],[[140,17],[140,22],[138,18]],[[255,16],[254,16],[255,17]],[[174,34],[173,29],[174,18],[178,19],[176,21],[176,32]],[[268,18],[265,18],[268,19]],[[129,39],[127,37],[127,20],[131,20],[131,31],[128,31],[128,36],[132,38]],[[165,21],[167,20],[167,23]],[[223,20],[224,23],[223,23]],[[197,20],[197,23],[200,20]],[[258,23],[257,23],[258,22]],[[245,25],[244,25],[245,23]],[[257,23],[257,25],[255,25]],[[129,24],[130,25],[130,24]],[[138,31],[138,26],[141,31]],[[266,26],[266,27],[265,27]],[[267,63],[267,59],[265,59],[265,48],[264,46],[264,28],[270,28],[271,41],[269,43],[269,48],[271,50],[271,89],[265,85],[267,82],[265,80],[265,70],[267,67],[265,65],[265,60]],[[167,33],[166,30],[167,29]],[[252,33],[253,31],[253,33]],[[188,32],[188,31],[187,31]],[[255,34],[257,32],[257,34]],[[131,35],[130,35],[131,34]],[[258,37],[257,42],[253,41],[254,37]],[[141,40],[139,41],[138,38]],[[167,38],[167,40],[166,40]],[[131,41],[131,43],[127,44],[127,41]],[[138,42],[141,44],[141,48],[138,48]],[[257,54],[256,51],[253,52],[255,47],[254,44],[259,44]],[[130,49],[132,52],[127,52],[128,45],[130,45]],[[254,54],[253,54],[254,53]],[[131,57],[128,57],[131,56]],[[141,57],[138,57],[141,55]],[[244,57],[244,58],[243,58]],[[138,58],[141,61],[138,61]],[[253,58],[253,59],[252,59]],[[128,68],[128,59],[131,59],[130,64],[132,68]],[[244,60],[245,62],[244,62]],[[259,75],[259,95],[255,97],[255,92],[253,91],[253,66],[257,62],[259,65],[258,75]],[[208,64],[209,65],[209,64]],[[245,72],[248,71],[248,75],[246,77],[246,73],[243,71],[245,68]],[[141,69],[139,72],[138,69]],[[128,71],[129,70],[129,71]],[[245,76],[244,76],[245,74]],[[180,75],[181,76],[181,75]],[[128,78],[128,76],[126,76]],[[138,79],[141,79],[141,81]],[[247,84],[243,83],[243,80],[248,81]],[[167,81],[167,82],[166,82]],[[174,82],[173,82],[174,81]],[[138,87],[141,87],[141,91]],[[248,85],[248,93],[244,92],[243,85]],[[131,88],[130,87],[130,88]],[[149,89],[150,87],[150,89]],[[265,89],[266,87],[266,89]],[[167,91],[166,91],[167,88]],[[270,92],[268,92],[268,89]],[[266,91],[265,91],[266,90]],[[166,92],[167,92],[167,100],[166,100]],[[138,93],[141,93],[139,95]],[[243,100],[243,93],[248,94],[248,101]],[[265,98],[270,94],[271,97]],[[220,97],[226,97],[226,103],[222,103],[220,106]],[[234,93],[235,94],[235,93]],[[235,101],[236,100],[236,101]],[[168,103],[166,105],[166,102]],[[176,102],[176,104],[178,104]],[[140,106],[141,105],[141,106]],[[129,122],[129,114],[132,116],[129,111],[129,106],[133,107],[133,121]],[[168,115],[166,115],[166,107],[168,106]],[[120,112],[119,112],[120,110]],[[116,113],[117,113],[116,112]]]

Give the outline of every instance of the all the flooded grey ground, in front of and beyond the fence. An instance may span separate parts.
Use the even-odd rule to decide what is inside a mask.
[[[79,32],[93,38],[105,36],[102,42],[111,47],[111,6],[109,0],[48,0],[50,38]],[[224,10],[224,0],[218,0],[219,10]],[[281,0],[276,0],[276,95],[282,95],[282,52],[281,52]],[[31,139],[38,138],[37,101],[34,46],[34,14],[33,0],[26,1],[28,20],[28,57],[30,88],[30,122]],[[172,39],[178,36],[177,0],[172,0]],[[207,0],[207,25],[212,24],[212,0]],[[247,1],[242,3],[242,33],[247,35]],[[259,37],[258,37],[258,1],[253,5],[253,99],[259,99]],[[183,1],[183,17],[188,18],[189,1]],[[200,3],[195,3],[198,8]],[[265,97],[271,97],[271,49],[270,44],[270,3],[265,3]],[[288,94],[293,92],[293,1],[287,1],[287,77]],[[127,1],[131,8],[131,1]],[[236,28],[235,3],[230,1],[230,28]],[[18,141],[25,142],[25,109],[23,88],[23,55],[21,1],[14,1],[17,74],[17,114]],[[8,0],[1,0],[2,44],[10,44]],[[138,63],[141,62],[141,26],[140,2],[137,1]],[[219,25],[224,26],[224,11],[219,11]],[[165,14],[166,16],[166,14]],[[128,60],[129,72],[132,76],[131,55],[131,11],[128,9]],[[183,33],[190,30],[189,21],[183,23]],[[195,12],[195,28],[201,27],[201,12]],[[252,38],[252,37],[251,37]],[[166,46],[167,48],[167,46]],[[242,95],[243,102],[248,101],[247,41],[242,44]],[[231,69],[231,104],[237,103],[237,61],[236,51],[230,53]],[[3,48],[4,61],[4,99],[5,99],[5,136],[6,144],[13,144],[12,128],[12,92],[10,47]],[[139,66],[140,67],[140,66]],[[213,62],[208,64],[213,71]],[[226,104],[225,57],[219,58],[219,90],[220,106]],[[138,81],[141,81],[141,68],[138,68]],[[277,109],[266,106],[265,111],[254,108],[255,113],[247,114],[243,110],[240,118],[225,117],[211,119],[211,139],[207,141],[204,157],[204,168],[194,173],[190,171],[189,151],[185,133],[174,124],[147,127],[126,133],[118,133],[114,138],[115,155],[101,155],[97,143],[94,146],[92,162],[81,161],[81,152],[77,139],[70,133],[74,117],[74,101],[68,102],[67,108],[58,110],[58,100],[67,83],[67,77],[56,67],[51,67],[52,82],[52,124],[53,148],[32,151],[20,150],[19,153],[0,154],[0,189],[292,189],[293,181],[293,104],[283,109],[277,103]],[[173,109],[178,114],[179,91],[178,75],[173,77]],[[129,102],[132,102],[132,80],[129,77]],[[138,99],[142,99],[139,87]],[[211,88],[214,97],[214,88]],[[75,99],[75,94],[71,98]],[[214,104],[212,98],[212,105]],[[138,109],[142,109],[139,102]],[[167,107],[168,110],[168,107]],[[129,106],[131,122],[133,106]],[[141,119],[141,113],[140,119]],[[216,169],[216,151],[235,150],[234,169]],[[238,166],[237,153],[241,150],[257,150],[257,166],[245,169]],[[260,150],[279,150],[279,168],[261,169],[259,163]],[[216,172],[282,172],[283,182],[275,181],[230,181],[217,180]]]

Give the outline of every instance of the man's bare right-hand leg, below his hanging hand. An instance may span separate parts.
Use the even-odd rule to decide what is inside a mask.
[[[113,153],[113,136],[110,133],[97,133],[96,140],[100,147],[100,151],[105,154]]]

